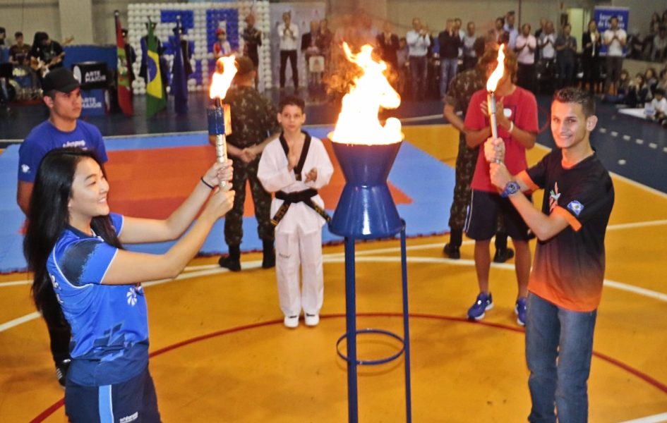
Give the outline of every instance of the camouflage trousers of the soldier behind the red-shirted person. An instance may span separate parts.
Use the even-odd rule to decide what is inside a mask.
[[[454,185],[454,201],[450,210],[450,228],[463,230],[470,205],[472,176],[475,173],[479,147],[469,149],[466,137],[459,135],[459,153],[456,157],[456,182]]]

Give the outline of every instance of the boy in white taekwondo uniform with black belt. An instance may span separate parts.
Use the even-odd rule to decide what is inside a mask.
[[[320,321],[322,226],[330,220],[317,190],[329,183],[333,166],[322,141],[301,130],[306,121],[304,106],[299,97],[282,99],[278,111],[282,133],[265,147],[257,174],[265,190],[275,192],[271,214],[276,226],[276,276],[288,328],[299,326],[302,308],[307,326]]]

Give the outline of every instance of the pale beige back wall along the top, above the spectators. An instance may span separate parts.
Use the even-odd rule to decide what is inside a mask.
[[[140,0],[144,3],[176,3],[177,0]],[[182,1],[182,0],[181,0]],[[308,2],[309,0],[292,0]],[[321,1],[321,0],[320,0]],[[93,42],[95,44],[114,43],[114,10],[121,12],[121,21],[127,24],[127,5],[137,0],[92,0]],[[386,11],[383,9],[386,4]],[[473,20],[477,27],[490,28],[497,16],[507,11],[519,13],[521,5],[521,23],[530,23],[533,29],[539,24],[539,18],[545,17],[558,23],[560,1],[552,0],[328,0],[327,11],[335,16],[347,12],[354,6],[366,8],[375,16],[375,25],[385,16],[395,25],[395,30],[403,35],[411,27],[413,17],[420,17],[428,23],[431,30],[440,31],[445,27],[447,18],[461,18],[464,23]],[[637,27],[646,33],[651,13],[667,9],[667,0],[575,0],[564,1],[565,8],[580,7],[592,10],[595,4],[611,4],[630,8],[630,29]],[[342,10],[344,9],[344,10]],[[53,39],[62,41],[70,34],[61,32],[59,0],[0,0],[0,26],[6,27],[8,41],[13,42],[13,33],[20,30],[25,34],[26,42],[32,42],[36,31],[46,31]],[[73,44],[80,44],[75,40]]]

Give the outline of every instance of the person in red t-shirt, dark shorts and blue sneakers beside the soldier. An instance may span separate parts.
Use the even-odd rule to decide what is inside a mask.
[[[490,49],[485,53],[494,57],[487,70],[491,75],[498,58],[498,50]],[[498,136],[505,144],[505,164],[512,173],[519,173],[528,168],[526,149],[535,145],[538,131],[537,102],[535,96],[512,82],[517,73],[517,59],[512,51],[505,52],[505,73],[495,90],[497,102],[496,118]],[[464,121],[466,142],[473,148],[491,137],[491,125],[486,104],[486,90],[479,90],[470,99]],[[498,215],[505,219],[507,235],[512,238],[516,250],[515,269],[519,292],[515,304],[517,323],[524,325],[526,319],[526,296],[530,273],[530,250],[528,240],[531,236],[526,223],[506,198],[498,195],[498,190],[491,183],[488,164],[484,152],[480,149],[475,173],[471,183],[472,199],[468,210],[466,233],[475,240],[475,270],[479,283],[479,295],[468,310],[469,319],[483,319],[486,310],[493,308],[493,298],[489,290],[488,274],[491,267],[489,245],[495,234]]]

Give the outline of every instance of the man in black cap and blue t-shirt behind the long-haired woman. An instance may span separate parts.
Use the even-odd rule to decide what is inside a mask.
[[[78,119],[81,115],[81,90],[73,73],[66,68],[54,69],[44,77],[43,90],[49,118],[30,131],[18,150],[16,202],[24,214],[28,214],[37,168],[47,152],[61,147],[80,147],[93,152],[102,163],[107,161],[100,130]],[[52,314],[44,313],[56,379],[64,387],[70,362],[71,333],[67,324],[61,324],[59,319],[52,317]]]

